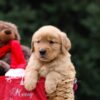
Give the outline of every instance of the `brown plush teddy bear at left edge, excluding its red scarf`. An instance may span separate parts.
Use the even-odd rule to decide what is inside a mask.
[[[18,40],[20,42],[20,34],[18,33],[17,26],[11,22],[0,20],[0,48],[9,43],[10,40]],[[28,62],[31,50],[29,47],[24,45],[21,45],[21,48],[26,62]],[[4,75],[5,72],[10,69],[11,51],[12,50],[6,52],[5,55],[0,58],[0,75]]]

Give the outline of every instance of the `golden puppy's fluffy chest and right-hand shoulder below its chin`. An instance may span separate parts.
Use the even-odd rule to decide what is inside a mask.
[[[59,58],[56,60],[53,60],[49,63],[43,63],[40,64],[41,67],[39,69],[39,75],[46,77],[48,75],[48,73],[54,71],[57,72],[61,75],[68,75],[68,72],[70,72],[71,69],[71,61],[68,57],[63,57],[63,58]]]

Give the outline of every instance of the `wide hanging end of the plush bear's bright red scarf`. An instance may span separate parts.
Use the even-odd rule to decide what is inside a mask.
[[[10,42],[11,68],[25,68],[26,61],[20,43],[17,40]]]

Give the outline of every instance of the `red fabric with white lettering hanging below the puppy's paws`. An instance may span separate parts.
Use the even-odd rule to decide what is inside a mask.
[[[33,91],[25,90],[23,80],[0,77],[0,100],[47,100],[44,91],[44,78]]]

